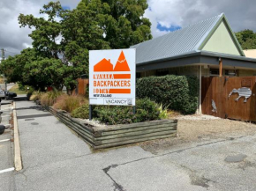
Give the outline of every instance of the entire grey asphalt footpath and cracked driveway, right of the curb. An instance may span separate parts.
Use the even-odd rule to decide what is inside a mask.
[[[24,169],[9,190],[255,190],[256,136],[185,143],[152,154],[139,146],[92,152],[34,103],[17,102]],[[8,190],[8,189],[7,189]]]

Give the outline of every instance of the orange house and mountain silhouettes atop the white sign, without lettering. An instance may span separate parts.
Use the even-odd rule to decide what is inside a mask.
[[[94,72],[113,71],[131,71],[123,51],[119,55],[115,69],[113,69],[113,64],[110,62],[110,60],[107,60],[106,58],[103,58],[102,61],[94,65]]]

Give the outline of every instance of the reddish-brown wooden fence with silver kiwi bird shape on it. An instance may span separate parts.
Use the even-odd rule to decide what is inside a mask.
[[[202,77],[202,114],[256,121],[255,83],[256,77]]]

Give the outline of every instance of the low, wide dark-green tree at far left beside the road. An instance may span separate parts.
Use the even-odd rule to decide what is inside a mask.
[[[44,90],[50,85],[61,90],[67,68],[60,59],[37,55],[34,48],[24,49],[20,55],[10,56],[1,64],[8,82],[30,85],[35,90]]]

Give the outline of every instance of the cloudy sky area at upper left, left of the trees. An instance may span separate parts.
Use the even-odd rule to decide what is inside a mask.
[[[39,14],[43,4],[47,4],[49,0],[1,0],[0,2],[0,48],[4,48],[9,52],[8,55],[19,53],[24,48],[31,47],[32,40],[28,37],[31,29],[19,27],[19,14],[33,14],[35,17],[41,17]],[[63,5],[75,8],[79,0],[63,0]],[[11,52],[11,53],[10,53]]]

